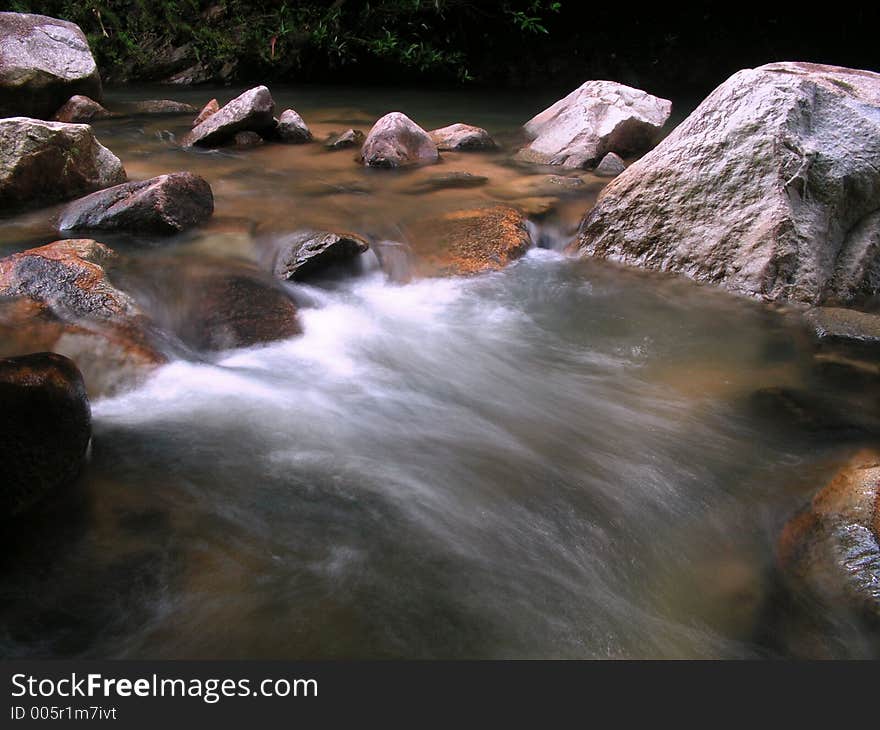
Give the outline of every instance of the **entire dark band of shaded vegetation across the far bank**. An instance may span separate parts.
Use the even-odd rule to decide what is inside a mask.
[[[0,0],[79,24],[111,83],[430,83],[566,88],[609,78],[704,94],[772,60],[880,68],[878,11],[579,0]]]

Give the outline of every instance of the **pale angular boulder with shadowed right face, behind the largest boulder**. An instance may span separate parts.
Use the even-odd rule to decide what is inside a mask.
[[[592,167],[608,152],[644,152],[672,113],[672,102],[613,81],[587,81],[525,124],[532,141],[517,159]]]

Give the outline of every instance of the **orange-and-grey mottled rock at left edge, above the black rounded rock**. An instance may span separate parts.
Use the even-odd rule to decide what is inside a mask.
[[[66,239],[7,256],[0,259],[0,296],[33,299],[62,320],[131,320],[140,310],[105,270],[115,255],[97,241]]]

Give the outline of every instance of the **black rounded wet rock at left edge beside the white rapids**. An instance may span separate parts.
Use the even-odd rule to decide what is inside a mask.
[[[0,520],[72,482],[91,438],[91,409],[76,365],[54,353],[0,360]]]

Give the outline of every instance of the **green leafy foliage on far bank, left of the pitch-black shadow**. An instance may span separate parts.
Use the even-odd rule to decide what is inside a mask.
[[[548,33],[559,2],[508,0],[11,0],[8,9],[77,23],[112,77],[149,78],[186,46],[211,70],[233,62],[267,78],[380,63],[402,73],[473,79],[488,34],[511,47]],[[477,39],[477,42],[475,42]]]

